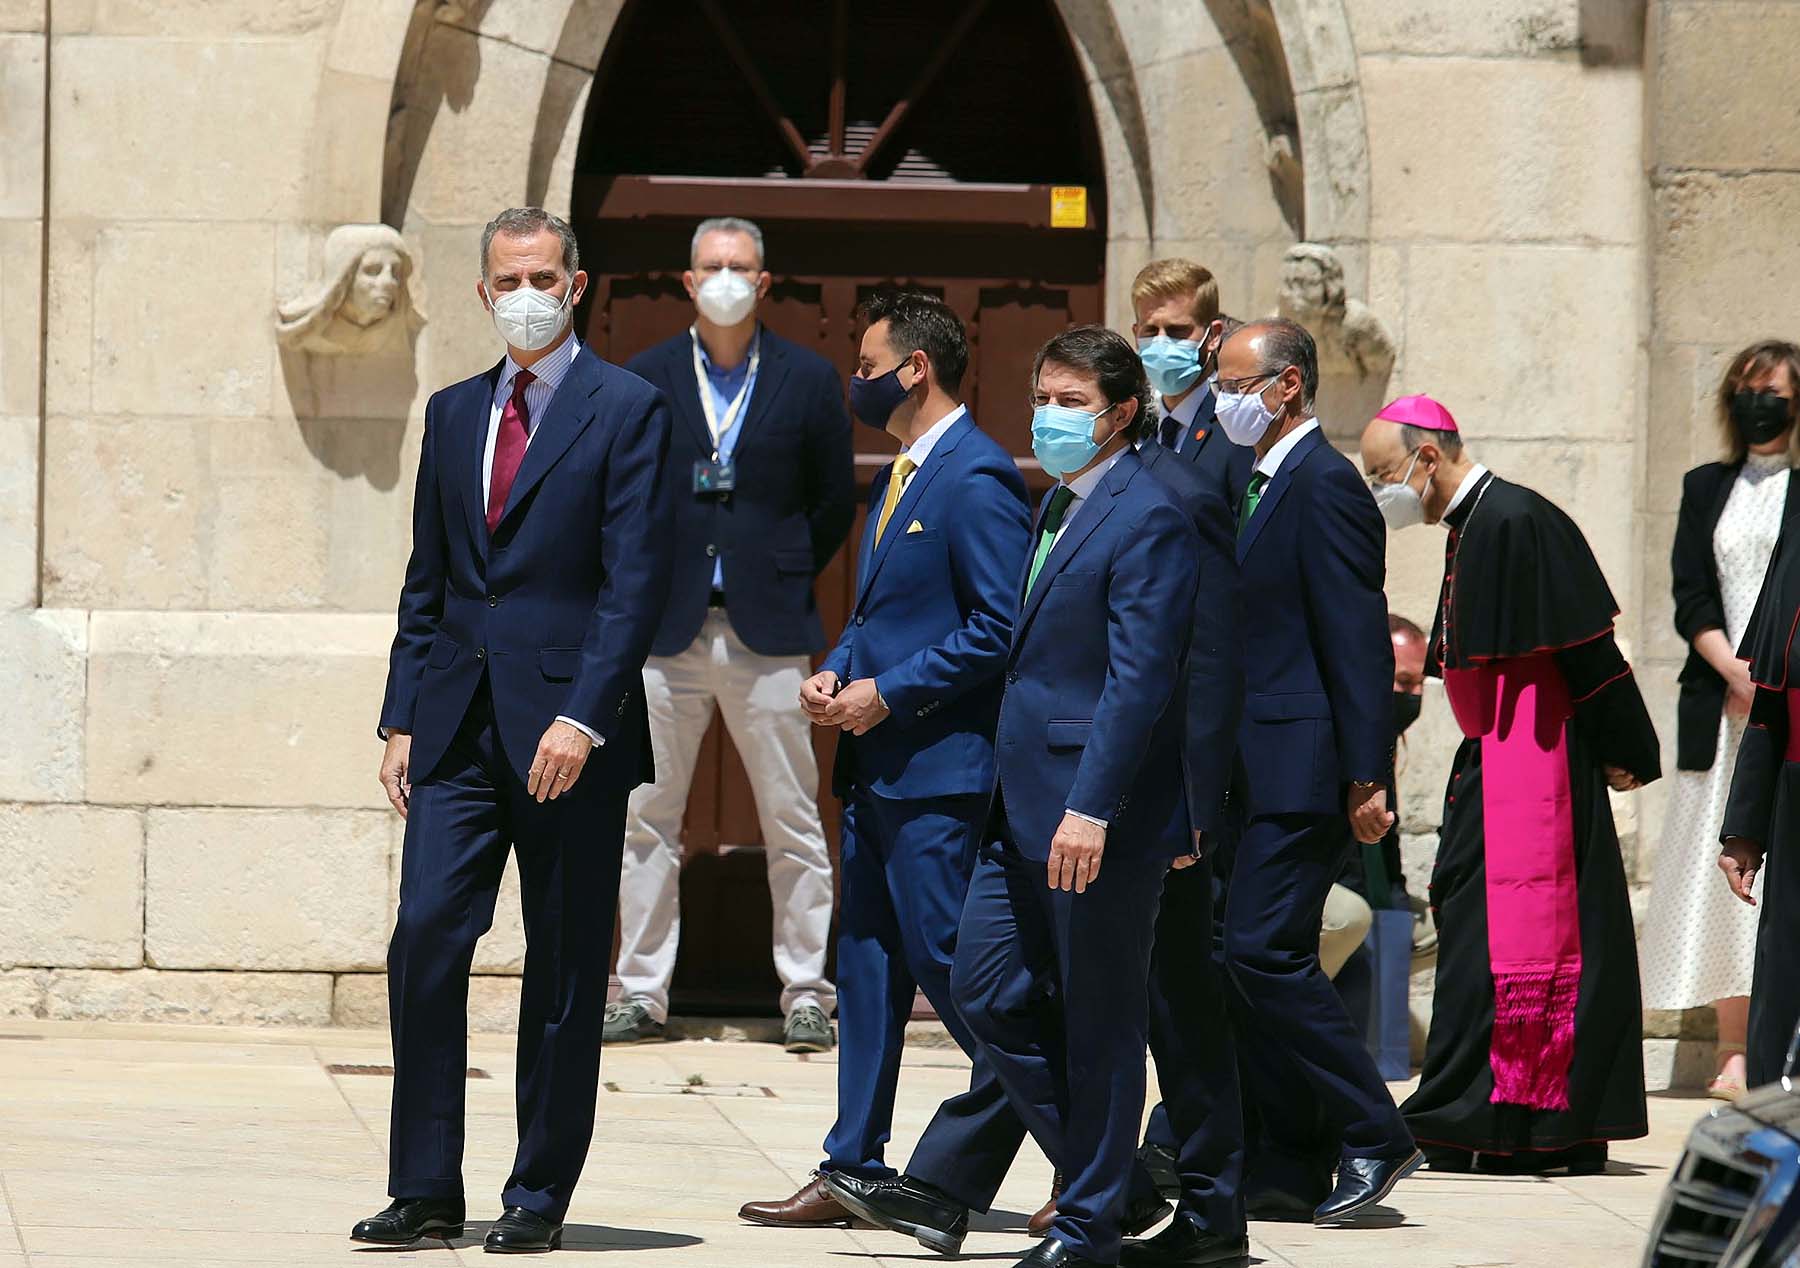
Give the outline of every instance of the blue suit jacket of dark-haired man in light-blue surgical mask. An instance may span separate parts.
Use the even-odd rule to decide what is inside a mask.
[[[1193,850],[1183,744],[1199,555],[1190,515],[1127,450],[1021,594],[995,796],[1026,857],[1049,857],[1064,809],[1107,820],[1109,852]]]

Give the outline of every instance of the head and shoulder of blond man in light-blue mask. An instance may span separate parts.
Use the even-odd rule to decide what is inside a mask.
[[[1237,506],[1253,454],[1233,445],[1213,418],[1219,348],[1229,333],[1229,319],[1219,312],[1219,281],[1192,259],[1152,259],[1132,279],[1130,306],[1138,355],[1163,405],[1156,441]]]

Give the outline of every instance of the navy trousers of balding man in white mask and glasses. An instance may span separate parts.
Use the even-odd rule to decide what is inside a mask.
[[[1339,1156],[1413,1147],[1388,1084],[1319,967],[1325,897],[1343,872],[1341,814],[1251,818],[1226,886],[1228,1007],[1256,1149],[1246,1187],[1305,1200],[1330,1192]]]

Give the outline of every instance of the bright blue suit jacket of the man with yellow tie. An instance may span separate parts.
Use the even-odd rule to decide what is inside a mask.
[[[873,677],[891,717],[839,738],[832,789],[846,796],[860,785],[893,798],[986,792],[1031,539],[1024,479],[965,414],[913,474],[877,544],[891,472],[871,488],[857,602],[824,659],[842,683]]]

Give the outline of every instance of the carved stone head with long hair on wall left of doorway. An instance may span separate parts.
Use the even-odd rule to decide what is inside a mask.
[[[412,303],[412,250],[389,225],[338,225],[326,238],[324,274],[279,306],[284,348],[326,357],[409,351],[425,324]]]

